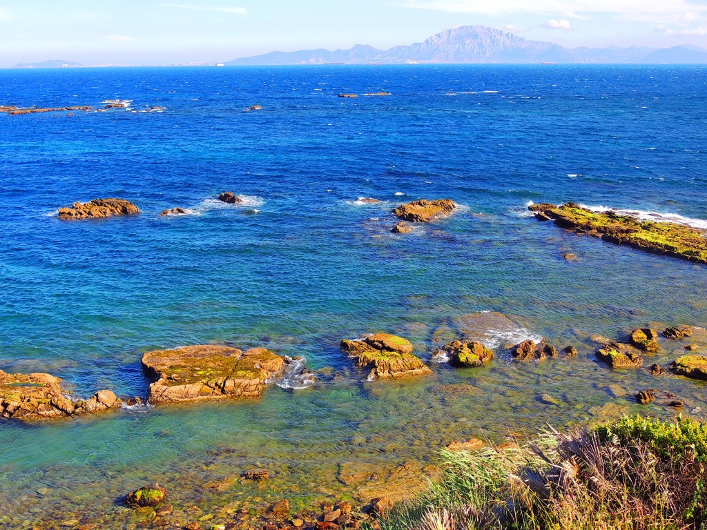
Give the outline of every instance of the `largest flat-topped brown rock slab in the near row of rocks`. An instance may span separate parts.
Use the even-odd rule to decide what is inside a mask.
[[[151,351],[142,357],[145,372],[156,379],[150,385],[152,404],[259,397],[286,363],[288,359],[265,348],[240,351],[213,345]]]

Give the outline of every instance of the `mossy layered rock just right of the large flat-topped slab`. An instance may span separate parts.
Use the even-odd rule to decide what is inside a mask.
[[[378,333],[356,341],[344,339],[341,350],[356,358],[359,368],[370,369],[369,381],[432,375],[432,370],[412,355],[412,344],[399,336]]]

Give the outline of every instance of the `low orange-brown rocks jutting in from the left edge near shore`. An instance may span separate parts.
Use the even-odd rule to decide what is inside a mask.
[[[35,372],[7,374],[0,370],[0,416],[16,420],[41,420],[83,416],[117,408],[121,401],[110,390],[90,398],[65,395],[59,377]]]

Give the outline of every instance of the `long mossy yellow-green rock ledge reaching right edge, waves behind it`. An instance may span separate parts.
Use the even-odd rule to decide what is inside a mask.
[[[533,204],[539,219],[574,232],[601,237],[617,245],[707,264],[707,230],[678,223],[640,220],[613,211],[595,212],[568,202],[562,206]]]

